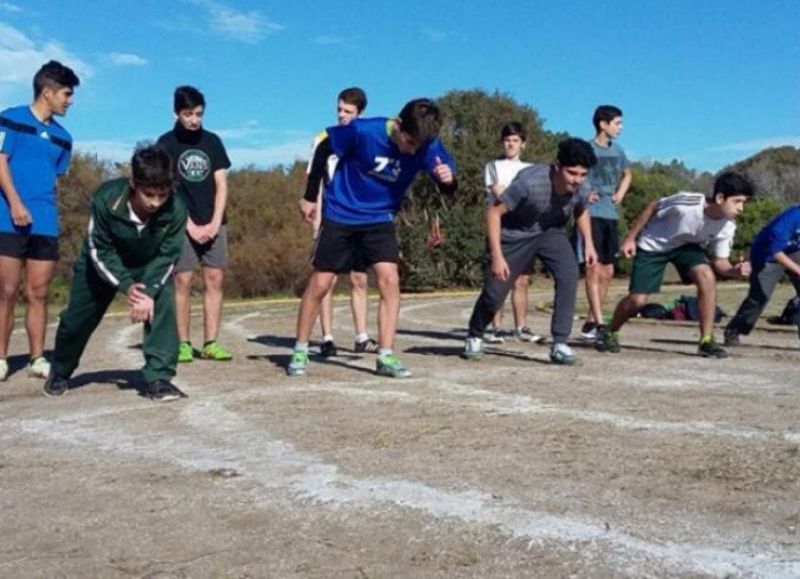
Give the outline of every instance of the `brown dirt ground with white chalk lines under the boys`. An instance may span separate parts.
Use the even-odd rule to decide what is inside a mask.
[[[743,294],[724,288],[725,309]],[[283,369],[296,302],[229,307],[236,360],[181,366],[190,397],[169,404],[133,387],[140,327],[124,317],[63,398],[12,358],[0,576],[800,576],[793,329],[764,324],[726,360],[694,355],[692,324],[634,322],[617,355],[575,340],[574,367],[514,341],[467,362],[474,300],[404,300],[407,380],[350,351],[345,299],[340,355],[302,378]]]

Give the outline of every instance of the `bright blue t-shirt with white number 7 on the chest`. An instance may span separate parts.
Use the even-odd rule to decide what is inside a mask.
[[[439,139],[406,155],[391,140],[391,128],[391,119],[379,117],[326,129],[339,164],[325,189],[325,219],[344,225],[391,222],[416,174],[432,173],[436,157],[455,171]]]

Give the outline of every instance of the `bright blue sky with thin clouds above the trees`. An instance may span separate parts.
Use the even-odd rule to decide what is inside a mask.
[[[583,137],[613,103],[631,158],[703,170],[800,146],[797,0],[0,0],[0,107],[50,58],[82,79],[77,148],[114,160],[172,126],[178,84],[206,94],[234,166],[305,158],[351,85],[375,116],[499,90]]]

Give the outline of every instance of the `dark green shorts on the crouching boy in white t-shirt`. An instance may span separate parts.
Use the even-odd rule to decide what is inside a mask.
[[[678,270],[683,283],[692,283],[689,271],[702,264],[708,264],[705,250],[699,245],[681,245],[670,251],[655,252],[637,249],[631,268],[628,290],[632,294],[656,294],[661,291],[664,270],[671,263]]]

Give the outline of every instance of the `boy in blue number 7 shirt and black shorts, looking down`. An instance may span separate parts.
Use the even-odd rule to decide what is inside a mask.
[[[420,171],[427,172],[446,194],[456,191],[455,164],[438,139],[439,108],[429,99],[412,100],[396,119],[355,119],[330,127],[314,153],[313,164],[339,158],[325,189],[314,272],[297,315],[297,341],[289,375],[306,373],[308,339],[324,295],[337,273],[349,272],[356,257],[372,267],[380,293],[377,373],[404,378],[411,373],[392,350],[400,311],[399,249],[394,217],[406,189]],[[300,201],[303,218],[313,222],[318,187],[309,187]]]

